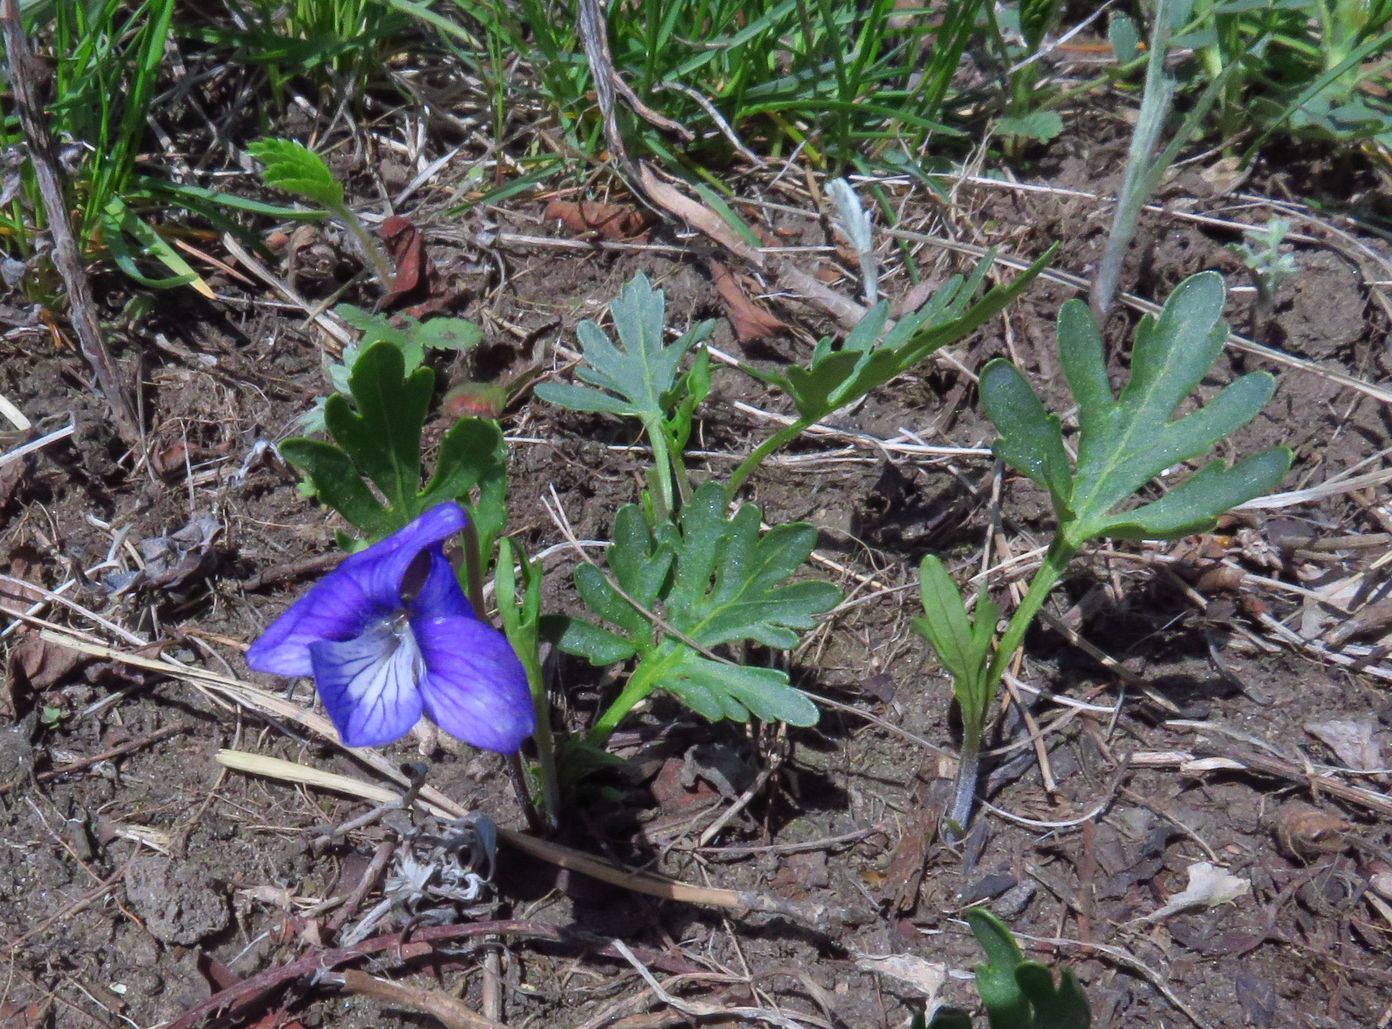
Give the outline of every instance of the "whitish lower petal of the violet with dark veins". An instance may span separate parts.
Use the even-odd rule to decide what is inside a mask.
[[[404,621],[310,645],[315,685],[345,746],[381,746],[420,720],[420,650]]]

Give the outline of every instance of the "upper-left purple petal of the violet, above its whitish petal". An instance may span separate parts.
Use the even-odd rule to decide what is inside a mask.
[[[252,643],[246,664],[273,675],[309,675],[309,647],[319,641],[352,639],[402,607],[401,582],[422,550],[464,529],[468,518],[454,503],[438,504],[409,525],[344,558]],[[444,557],[438,556],[443,563]],[[430,581],[436,578],[432,558]],[[427,586],[430,585],[427,581]],[[447,614],[454,613],[451,604]]]

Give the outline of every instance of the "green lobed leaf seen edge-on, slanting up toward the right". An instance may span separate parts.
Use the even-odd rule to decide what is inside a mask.
[[[839,348],[834,349],[830,340],[821,340],[806,368],[795,366],[784,373],[754,368],[745,370],[786,393],[798,405],[802,419],[816,422],[983,326],[1044,270],[1054,258],[1054,249],[1050,248],[1013,281],[997,285],[974,304],[973,297],[991,267],[990,255],[981,259],[966,280],[962,276],[948,278],[927,304],[899,319],[888,334],[884,327],[889,305],[881,302],[866,312]]]

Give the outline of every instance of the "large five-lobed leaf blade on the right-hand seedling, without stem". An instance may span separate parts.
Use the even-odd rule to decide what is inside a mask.
[[[1097,536],[1173,539],[1203,531],[1222,512],[1270,493],[1290,465],[1283,448],[1232,468],[1214,462],[1165,497],[1118,511],[1158,475],[1201,457],[1265,407],[1275,388],[1253,372],[1182,418],[1179,405],[1208,375],[1228,336],[1222,280],[1211,272],[1186,278],[1160,316],[1141,319],[1130,380],[1119,397],[1107,380],[1107,359],[1093,316],[1082,301],[1058,319],[1059,362],[1077,401],[1077,464],[1069,472],[1058,419],[1044,411],[1019,372],[992,361],[981,373],[981,404],[1001,439],[997,454],[1045,487],[1072,547]]]

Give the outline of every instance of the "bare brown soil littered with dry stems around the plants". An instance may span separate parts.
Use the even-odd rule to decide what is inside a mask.
[[[965,265],[915,233],[1026,259],[1059,239],[1054,267],[1086,276],[1109,224],[1097,195],[1116,178],[1098,168],[1119,173],[1122,148],[1059,141],[1031,177],[1044,191],[962,181],[944,201],[905,182],[888,188],[926,274]],[[827,698],[821,723],[750,735],[660,699],[615,737],[626,764],[578,798],[561,834],[611,862],[821,916],[660,901],[503,845],[482,895],[423,905],[444,912],[443,926],[386,912],[366,938],[387,943],[340,968],[400,982],[418,998],[458,997],[515,1026],[901,1026],[922,1008],[933,964],[947,971],[942,996],[972,1004],[979,951],[960,912],[984,901],[1030,955],[1075,969],[1097,1026],[1388,1025],[1392,636],[1379,611],[1392,423],[1385,400],[1331,373],[1389,383],[1392,251],[1349,219],[1278,203],[1286,180],[1267,173],[1225,194],[1219,173],[1190,167],[1166,187],[1162,210],[1141,221],[1123,288],[1162,299],[1185,276],[1218,269],[1229,320],[1249,334],[1253,291],[1225,251],[1237,238],[1232,223],[1295,216],[1300,274],[1263,329],[1265,343],[1304,363],[1229,348],[1201,393],[1242,370],[1274,372],[1275,400],[1233,447],[1285,441],[1296,451],[1286,489],[1310,493],[1239,512],[1214,535],[1094,549],[1075,565],[1052,621],[1027,642],[1019,703],[995,720],[981,791],[990,806],[963,844],[935,833],[958,727],[945,677],[909,631],[913,572],[934,551],[969,576],[984,543],[991,567],[1027,556],[1047,542],[1050,512],[1029,483],[998,480],[990,457],[930,453],[991,440],[970,380],[940,362],[832,419],[838,433],[805,439],[748,490],[770,522],[818,528],[821,574],[846,593],[792,667],[799,685]],[[763,195],[754,182],[732,185]],[[1354,202],[1368,188],[1304,188],[1315,185]],[[770,311],[791,330],[741,344],[686,233],[657,227],[644,242],[576,246],[541,207],[515,201],[464,221],[413,214],[450,284],[445,311],[484,330],[480,351],[443,377],[489,379],[535,362],[564,379],[555,347],[574,348],[576,322],[600,317],[640,270],[665,290],[670,326],[717,317],[713,345],[743,361],[796,358],[830,330],[816,309],[773,297]],[[750,205],[745,214],[784,242],[828,241],[810,201],[802,213]],[[331,239],[306,252],[316,246],[331,255]],[[888,241],[883,253],[884,290],[899,298],[909,285],[899,253]],[[807,270],[834,256],[806,255]],[[306,265],[295,281],[313,302],[341,272],[331,259]],[[271,270],[288,274],[284,263]],[[71,347],[18,309],[0,343],[0,393],[36,430],[75,425],[0,468],[0,1022],[432,1025],[400,997],[315,969],[377,904],[377,890],[345,900],[380,845],[398,844],[400,872],[412,848],[404,834],[445,828],[394,813],[334,833],[373,803],[231,771],[219,749],[381,784],[377,771],[292,718],[125,660],[281,689],[248,673],[241,652],[331,547],[335,519],[258,447],[290,434],[324,391],[323,338],[302,309],[260,285],[210,281],[219,302],[161,294],[138,330],[120,327],[121,283],[102,284],[120,358],[132,370],[136,354],[143,362],[143,457],[114,439]],[[853,278],[832,288],[851,295]],[[1065,409],[1052,319],[1070,295],[1041,280],[952,355],[979,369],[1009,354]],[[352,297],[372,301],[361,287]],[[1134,317],[1119,308],[1108,324],[1115,369]],[[764,387],[718,366],[692,466],[728,471],[729,455],[778,412]],[[548,604],[569,608],[575,558],[557,547],[543,500],[554,490],[579,537],[604,539],[614,510],[636,496],[642,455],[626,450],[629,426],[530,397],[505,412],[504,427],[514,440],[511,531],[533,554],[550,549]],[[1009,608],[1009,575],[992,582]],[[32,617],[11,621],[15,611]],[[42,625],[124,657],[45,642]],[[601,686],[589,668],[560,661],[557,718],[583,725]],[[313,703],[308,684],[291,698],[302,710]],[[409,742],[386,755],[422,760]],[[430,785],[522,828],[500,760],[427,759]],[[707,833],[717,819],[728,820]],[[1157,915],[1200,862],[1249,888]],[[402,943],[395,930],[408,920],[418,925]],[[486,934],[447,932],[494,920]],[[292,962],[302,962],[296,972],[276,977]],[[238,983],[244,1007],[198,1008]]]

